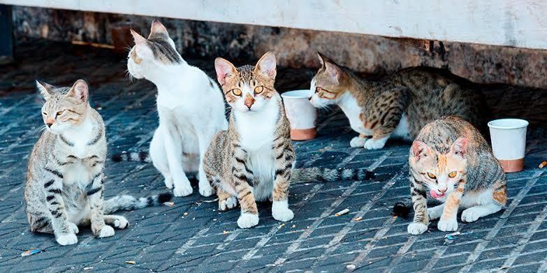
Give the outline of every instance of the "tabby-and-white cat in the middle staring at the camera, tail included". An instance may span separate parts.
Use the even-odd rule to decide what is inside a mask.
[[[293,170],[296,154],[289,121],[274,87],[276,63],[272,52],[265,53],[256,66],[235,68],[226,59],[214,61],[231,114],[228,130],[214,136],[203,163],[217,191],[219,209],[240,203],[240,228],[258,224],[256,201],[272,200],[272,216],[277,221],[293,219],[288,202],[291,181],[372,177],[366,170]]]

